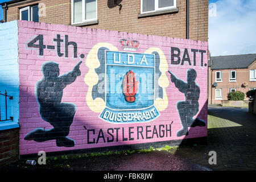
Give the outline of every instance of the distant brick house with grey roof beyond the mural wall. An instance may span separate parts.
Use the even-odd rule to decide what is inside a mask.
[[[210,57],[208,104],[221,104],[228,93],[256,89],[256,54]]]

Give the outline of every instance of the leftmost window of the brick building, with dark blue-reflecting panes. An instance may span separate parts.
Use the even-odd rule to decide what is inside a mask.
[[[33,22],[39,22],[38,5],[27,6],[19,10],[19,19]]]

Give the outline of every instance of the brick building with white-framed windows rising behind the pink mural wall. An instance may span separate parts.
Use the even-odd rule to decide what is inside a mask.
[[[23,19],[208,41],[207,0],[14,0],[1,5],[7,22]]]

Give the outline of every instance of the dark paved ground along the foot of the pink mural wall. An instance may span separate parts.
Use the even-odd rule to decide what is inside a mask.
[[[8,171],[23,169],[97,171],[256,170],[256,115],[248,113],[247,110],[245,108],[208,107],[208,144],[204,146],[171,147],[171,153],[151,151],[144,154],[136,152],[129,155],[54,160],[53,164],[47,163],[46,166],[26,166],[24,161],[20,161],[2,169]],[[216,151],[216,165],[208,163],[209,151]],[[68,168],[65,166],[68,166]]]

